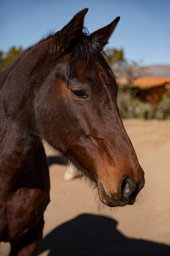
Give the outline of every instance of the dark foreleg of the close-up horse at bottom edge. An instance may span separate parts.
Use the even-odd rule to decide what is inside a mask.
[[[9,256],[34,256],[42,240],[43,217],[38,224],[17,240],[11,242]]]

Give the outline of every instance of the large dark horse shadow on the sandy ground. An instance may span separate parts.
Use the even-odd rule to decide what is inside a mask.
[[[117,221],[104,216],[82,214],[56,227],[40,245],[36,256],[49,249],[48,256],[168,256],[170,247],[146,240],[127,238]]]

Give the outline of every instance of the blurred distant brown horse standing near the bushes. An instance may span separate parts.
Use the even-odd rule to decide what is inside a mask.
[[[155,118],[155,112],[163,94],[168,95],[170,93],[170,85],[168,83],[163,83],[163,85],[155,86],[147,90],[133,88],[132,92],[141,101],[152,104],[152,118]]]

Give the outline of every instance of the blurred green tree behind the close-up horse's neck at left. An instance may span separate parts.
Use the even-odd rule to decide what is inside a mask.
[[[16,48],[15,46],[10,47],[6,54],[0,51],[0,75],[5,67],[7,67],[7,65],[9,65],[9,63],[11,63],[22,51],[22,47]]]

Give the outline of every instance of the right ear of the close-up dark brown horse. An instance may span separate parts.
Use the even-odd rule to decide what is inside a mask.
[[[120,20],[120,17],[118,16],[117,18],[115,18],[115,20],[113,20],[113,22],[111,22],[107,26],[102,27],[101,29],[98,29],[97,31],[93,32],[90,35],[90,38],[93,40],[93,38],[97,37],[99,40],[101,40],[101,44],[104,47],[104,45],[107,45],[108,39],[110,38],[111,34],[115,30],[119,20]]]

